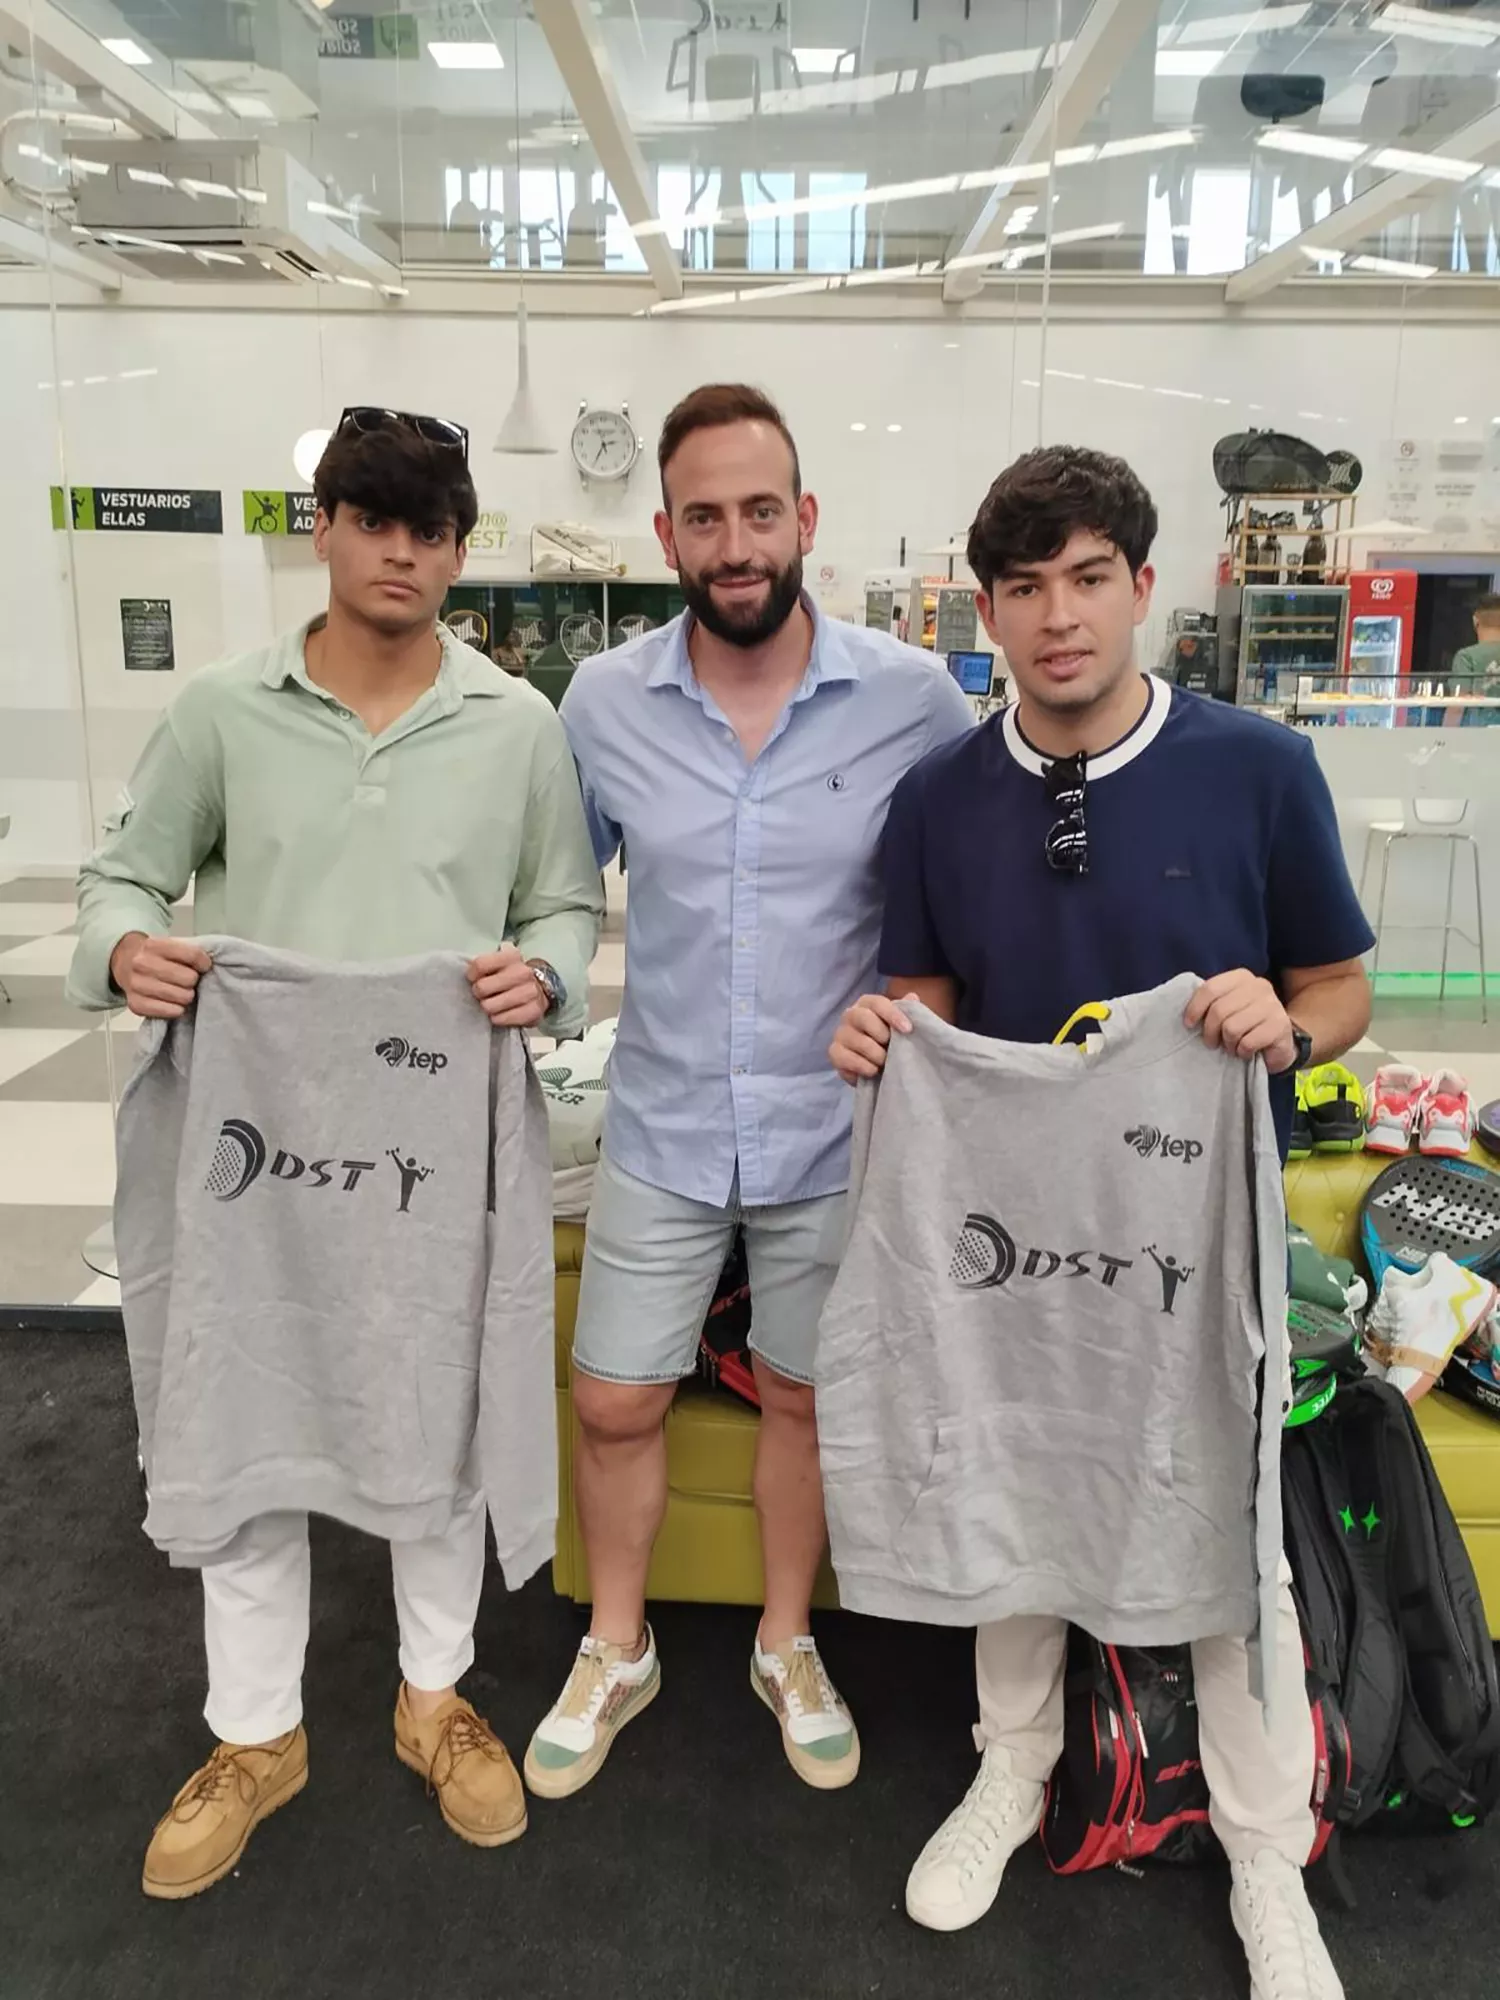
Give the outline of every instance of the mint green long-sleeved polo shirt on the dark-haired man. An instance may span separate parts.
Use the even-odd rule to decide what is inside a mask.
[[[440,628],[434,684],[370,736],[308,678],[308,630],[194,674],[158,722],[78,876],[68,998],[118,1006],[114,946],[168,932],[196,878],[200,936],[308,958],[512,940],[568,986],[548,1028],[582,1028],[604,904],[552,704]]]

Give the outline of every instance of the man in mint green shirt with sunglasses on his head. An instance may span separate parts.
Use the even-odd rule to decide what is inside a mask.
[[[208,952],[170,936],[196,878],[204,936],[322,960],[464,952],[498,1028],[574,1032],[602,898],[568,744],[540,694],[438,624],[478,512],[468,436],[346,410],[314,490],[328,610],[194,674],[156,726],[78,882],[70,998],[180,1018],[212,978]],[[524,1792],[454,1686],[474,1660],[484,1538],[474,1492],[446,1532],[392,1544],[396,1746],[454,1832],[500,1846],[524,1832]],[[156,1826],[148,1896],[218,1882],[306,1782],[306,1516],[248,1522],[202,1590],[218,1746]]]

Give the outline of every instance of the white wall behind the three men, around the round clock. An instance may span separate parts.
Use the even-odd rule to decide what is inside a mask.
[[[1274,424],[1356,450],[1372,518],[1384,512],[1386,440],[1450,436],[1456,416],[1488,432],[1500,412],[1500,334],[1464,324],[1054,314],[1044,338],[1032,322],[956,316],[598,320],[546,318],[546,298],[532,306],[536,400],[562,446],[540,460],[488,450],[514,390],[508,318],[66,308],[54,358],[44,312],[0,312],[0,812],[16,822],[6,866],[78,854],[80,658],[98,816],[182,672],[262,644],[316,598],[306,550],[246,538],[238,496],[298,484],[292,442],[344,402],[468,424],[480,504],[508,510],[522,550],[532,520],[586,518],[644,566],[662,416],[698,382],[760,382],[798,436],[822,500],[818,562],[838,570],[850,602],[866,570],[898,562],[902,536],[914,566],[936,568],[922,552],[962,532],[990,478],[1038,438],[1122,452],[1162,514],[1148,658],[1172,606],[1212,604],[1222,514],[1210,448],[1222,432]],[[626,494],[580,490],[566,440],[582,398],[630,402],[648,450]],[[82,534],[72,578],[46,500],[64,458],[74,484],[218,486],[226,534]],[[174,604],[180,672],[126,676],[118,600],[158,594]]]

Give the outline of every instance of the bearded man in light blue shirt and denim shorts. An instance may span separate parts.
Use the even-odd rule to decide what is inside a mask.
[[[972,724],[942,668],[802,594],[818,504],[758,390],[694,390],[658,448],[656,532],[688,612],[588,662],[562,704],[594,852],[630,854],[626,996],[578,1332],[578,1516],[594,1618],[540,1722],[544,1798],[598,1772],[660,1684],[646,1570],[662,1420],[694,1372],[736,1226],[750,1260],[766,1608],[752,1684],[808,1784],[848,1784],[854,1720],[810,1636],[826,1530],[812,1398],[842,1248],[850,1102],[826,1070],[880,938],[900,778]]]

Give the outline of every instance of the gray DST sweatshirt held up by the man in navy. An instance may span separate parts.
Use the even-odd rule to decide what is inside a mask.
[[[1282,1176],[1264,1064],[1182,1026],[1196,984],[1112,1002],[1092,1052],[904,1002],[818,1336],[850,1610],[1274,1632]]]

